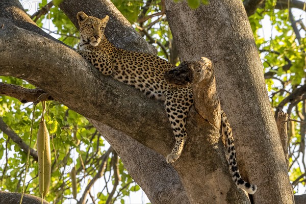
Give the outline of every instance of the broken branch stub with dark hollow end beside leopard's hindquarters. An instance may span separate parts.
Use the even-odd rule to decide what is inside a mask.
[[[192,87],[194,106],[198,114],[220,128],[220,101],[216,89],[213,63],[205,57],[198,61],[184,61],[165,73],[165,79],[177,86]],[[205,106],[203,106],[205,104]]]

